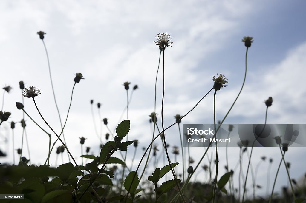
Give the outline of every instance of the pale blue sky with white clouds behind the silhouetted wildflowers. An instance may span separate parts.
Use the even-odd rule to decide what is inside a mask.
[[[95,125],[100,131],[97,102],[102,103],[101,118],[108,118],[113,131],[126,106],[123,82],[138,85],[129,104],[131,130],[129,139],[139,140],[135,163],[147,147],[152,132],[148,115],[154,112],[155,77],[159,62],[156,41],[158,33],[172,37],[172,47],[165,50],[164,125],[171,125],[176,114],[185,114],[213,86],[212,77],[224,74],[229,82],[217,92],[216,117],[222,120],[235,100],[244,78],[246,47],[241,39],[254,37],[248,49],[247,77],[244,88],[225,123],[263,123],[264,100],[273,97],[268,109],[268,123],[305,123],[306,65],[305,12],[306,2],[297,1],[1,1],[0,2],[0,85],[10,85],[13,91],[5,94],[4,111],[11,118],[1,125],[0,149],[7,153],[0,162],[13,163],[12,131],[8,122],[21,121],[22,111],[15,107],[22,102],[19,81],[25,86],[37,86],[42,94],[35,101],[44,118],[56,132],[61,131],[50,85],[46,53],[36,34],[44,31],[54,91],[62,121],[67,116],[73,78],[82,73],[84,80],[77,83],[64,135],[68,148],[80,163],[80,139],[84,147],[98,154],[99,140],[91,115],[90,100],[94,100]],[[129,96],[131,91],[129,90]],[[0,94],[2,95],[2,94]],[[2,103],[1,103],[2,104]],[[162,67],[157,79],[156,113],[161,128]],[[40,118],[33,101],[24,98],[24,109],[44,129],[51,132]],[[211,92],[182,123],[213,123],[213,92]],[[48,136],[29,118],[26,132],[31,161],[43,164],[47,158]],[[21,147],[22,128],[14,129],[15,149]],[[104,135],[108,132],[102,125]],[[180,146],[177,126],[165,132],[171,146]],[[167,136],[169,135],[169,136]],[[4,142],[7,138],[8,142]],[[55,136],[52,135],[52,140]],[[159,140],[158,140],[159,141]],[[158,142],[161,149],[161,143]],[[57,143],[55,146],[59,146]],[[132,157],[134,147],[129,147]],[[190,149],[192,158],[199,161],[202,150]],[[251,150],[251,149],[249,149]],[[141,153],[140,153],[141,152]],[[239,148],[229,148],[230,168],[239,158]],[[28,158],[27,150],[24,156]],[[274,158],[271,174],[275,174],[281,154],[275,148],[255,148],[252,164],[260,157]],[[209,154],[214,157],[215,149]],[[219,177],[224,174],[225,148],[219,148]],[[173,154],[172,158],[173,158]],[[291,162],[292,178],[304,177],[306,155],[304,147],[289,149],[286,161]],[[120,156],[117,154],[117,156]],[[17,157],[15,151],[15,158]],[[51,162],[55,163],[55,151]],[[180,159],[178,159],[179,161]],[[67,155],[64,162],[68,161]],[[17,161],[15,161],[17,163]],[[58,163],[61,163],[60,158]],[[247,157],[244,156],[246,168]],[[207,164],[207,159],[201,165]],[[261,163],[258,193],[266,193],[268,161]],[[135,166],[134,166],[135,167]],[[158,164],[162,167],[162,162]],[[195,167],[195,165],[193,165]],[[151,169],[151,168],[150,168]],[[148,170],[148,175],[153,172]],[[244,169],[244,173],[246,169]],[[200,173],[199,177],[204,173]],[[274,176],[274,175],[272,175]],[[235,173],[235,179],[238,173]],[[272,181],[272,178],[271,178]],[[251,185],[251,179],[248,180]],[[287,185],[285,167],[280,169],[276,190]],[[272,183],[270,183],[270,190]]]

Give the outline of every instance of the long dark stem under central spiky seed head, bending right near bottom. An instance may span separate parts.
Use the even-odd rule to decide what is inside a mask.
[[[164,132],[165,129],[164,129],[164,116],[163,116],[163,110],[164,110],[164,96],[165,96],[165,49],[162,49],[162,131]],[[171,172],[172,172],[172,175],[174,177],[174,180],[175,180],[175,183],[176,183],[176,186],[177,186],[177,189],[179,191],[179,193],[181,194],[181,198],[183,199],[184,203],[186,203],[186,200],[182,194],[182,191],[180,189],[180,186],[177,182],[177,178],[174,174],[174,170],[171,166],[171,161],[170,161],[170,157],[169,157],[169,154],[168,154],[168,150],[167,150],[167,144],[166,144],[166,136],[164,134],[163,136],[164,138],[164,144],[165,144],[165,150],[166,150],[166,156],[167,156],[167,159],[168,159],[168,163],[169,163],[169,166],[170,166],[170,169],[171,169]]]

